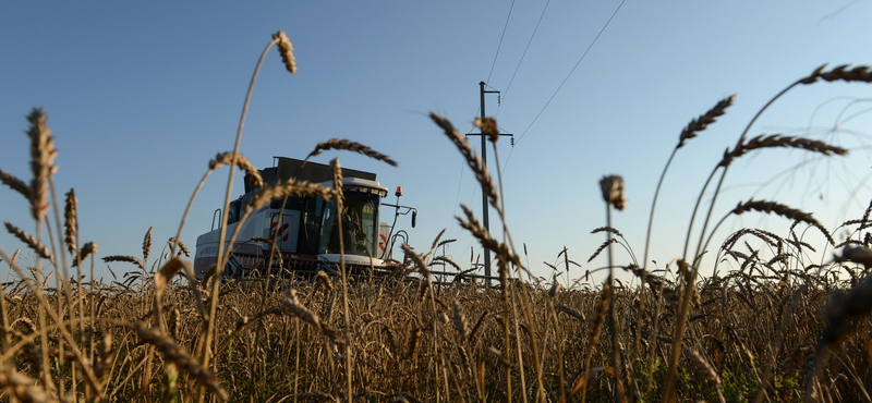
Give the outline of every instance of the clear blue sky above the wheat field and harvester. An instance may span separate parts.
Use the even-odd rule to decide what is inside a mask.
[[[150,225],[156,245],[174,235],[209,159],[232,149],[251,73],[270,35],[283,29],[299,72],[288,74],[275,50],[261,72],[241,146],[256,166],[270,166],[272,156],[302,158],[331,137],[387,154],[399,168],[350,154],[317,161],[339,157],[344,167],[377,172],[388,188],[403,186],[401,203],[420,211],[416,229],[404,222],[411,244],[426,248],[446,228],[446,237],[458,239],[447,254],[465,266],[470,246],[481,248],[453,217],[460,203],[481,216],[480,192],[426,113],[470,131],[479,82],[486,81],[502,91],[499,106],[488,96],[488,114],[516,134],[513,148],[500,139],[499,157],[519,252],[526,244],[531,268],[547,277],[542,261],[554,262],[567,246],[583,266],[574,279],[605,265],[585,262],[604,241],[590,234],[605,223],[600,178],[625,178],[628,208],[614,225],[641,259],[653,191],[679,133],[737,94],[728,113],[681,149],[667,176],[652,254],[662,265],[681,254],[705,176],[772,96],[823,63],[872,63],[870,16],[872,2],[849,0],[533,0],[513,8],[511,1],[4,1],[0,169],[29,179],[24,115],[44,107],[60,150],[57,186],[76,191],[82,241],[97,242],[100,257],[138,256]],[[827,139],[852,148],[851,157],[776,176],[807,156],[748,156],[730,171],[718,210],[753,196],[814,212],[829,228],[861,216],[872,195],[864,148],[870,95],[864,84],[790,91],[751,134]],[[182,236],[192,248],[210,228],[226,178],[226,170],[213,175],[194,205]],[[241,193],[237,184],[234,197]],[[785,234],[786,220],[761,217],[732,219],[725,230],[762,225]],[[25,204],[5,187],[0,219],[33,232]],[[492,227],[499,233],[496,220]],[[0,247],[11,254],[20,244],[3,233]],[[629,262],[619,249],[616,257]]]

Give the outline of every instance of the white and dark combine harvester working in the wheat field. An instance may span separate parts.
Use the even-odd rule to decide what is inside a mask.
[[[259,171],[265,184],[296,178],[332,187],[329,166],[315,162],[303,166],[303,161],[286,157],[274,157],[272,164]],[[226,212],[227,240],[240,224],[245,206],[257,191],[246,176],[245,194],[231,202]],[[278,277],[312,278],[319,270],[336,272],[340,262],[339,219],[342,220],[346,268],[349,273],[392,274],[397,267],[390,256],[393,241],[404,236],[408,243],[405,231],[393,234],[393,225],[399,216],[411,212],[414,228],[417,210],[399,205],[401,187],[397,187],[397,204],[383,203],[388,190],[376,182],[376,175],[372,172],[342,168],[342,191],[344,209],[341,213],[332,200],[314,196],[291,196],[287,200],[277,198],[252,212],[239,230],[223,274],[237,279],[266,276],[270,260],[270,272]],[[395,209],[392,224],[379,221],[382,206]],[[197,277],[203,277],[217,261],[221,213],[221,209],[215,210],[211,231],[197,237],[194,259]],[[219,227],[216,228],[216,224]],[[276,243],[271,259],[269,242],[266,240],[275,240]]]

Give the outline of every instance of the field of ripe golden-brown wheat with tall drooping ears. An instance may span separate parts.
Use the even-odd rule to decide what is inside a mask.
[[[272,45],[278,45],[286,68],[293,73],[290,40],[279,32],[267,50]],[[870,74],[867,68],[821,68],[785,91],[799,84],[837,80],[869,82]],[[691,121],[676,150],[714,123],[732,99],[717,102]],[[246,98],[246,107],[247,102]],[[813,245],[797,236],[797,230],[814,227],[831,244],[835,242],[811,215],[775,202],[741,203],[731,215],[774,213],[792,224],[783,234],[742,229],[727,236],[715,253],[716,273],[723,269],[724,276],[703,278],[698,276],[701,251],[707,248],[717,229],[708,230],[711,210],[729,163],[715,164],[710,181],[717,172],[720,180],[699,236],[691,234],[692,224],[688,230],[686,255],[692,258],[685,256],[664,270],[644,266],[647,245],[640,265],[627,240],[611,227],[613,207],[622,209],[627,200],[620,176],[606,176],[601,183],[606,227],[594,230],[604,233],[606,242],[594,256],[608,254],[609,280],[593,286],[578,282],[564,286],[556,277],[550,283],[540,282],[530,276],[512,244],[501,191],[494,178],[448,120],[435,114],[431,118],[485,185],[485,194],[499,215],[502,240],[486,231],[469,208],[463,207],[464,217],[458,218],[482,247],[495,253],[498,284],[465,280],[448,284],[435,278],[429,269],[434,265],[463,271],[458,264],[436,255],[441,245],[453,241],[440,241],[441,234],[423,253],[404,245],[407,257],[396,268],[401,274],[393,278],[351,279],[340,267],[341,276],[322,271],[315,281],[290,279],[277,289],[266,286],[265,280],[223,279],[223,265],[219,262],[209,276],[197,280],[182,258],[190,258],[179,241],[183,222],[179,234],[166,243],[170,253],[161,252],[150,268],[152,229],[143,239],[142,258],[102,258],[116,269],[132,264],[136,270],[121,278],[113,271],[110,283],[93,273],[88,281],[78,273],[70,278],[66,270],[85,265],[85,259],[94,266],[97,244],[85,242],[78,247],[73,191],[66,194],[63,215],[53,215],[56,221],[62,217],[63,221],[56,224],[65,227],[63,237],[48,236],[46,241],[41,236],[44,225],[55,228],[50,227],[48,200],[53,193],[57,151],[45,113],[34,110],[27,131],[33,179],[27,183],[0,171],[0,182],[29,202],[37,223],[36,235],[12,223],[5,224],[7,230],[38,256],[35,265],[23,267],[16,261],[19,252],[9,256],[0,247],[3,265],[16,276],[0,286],[0,399],[870,400],[872,205],[862,218],[843,224],[851,230],[841,243],[840,256],[816,265],[809,262]],[[191,203],[203,182],[222,164],[241,168],[254,180],[259,178],[238,152],[243,122],[244,113],[234,150],[210,161]],[[486,119],[476,124],[494,145],[498,138],[496,122]],[[772,147],[845,154],[838,147],[796,137],[759,136],[746,142],[746,134],[747,130],[725,160]],[[326,150],[349,150],[393,162],[362,144],[339,139],[318,144],[312,155]],[[331,166],[332,190],[296,181],[267,186],[253,197],[241,220],[288,195],[313,195],[341,205],[341,167],[336,159]],[[232,184],[232,172],[228,185]],[[495,172],[499,172],[498,167]],[[692,220],[699,207],[700,202]],[[237,236],[225,235],[231,243]],[[692,254],[691,237],[699,240]],[[615,245],[626,248],[631,264],[615,262]],[[525,246],[523,252],[526,255]],[[72,259],[66,259],[66,254]],[[222,251],[221,257],[227,259],[229,252]],[[559,257],[567,271],[578,266],[566,247]],[[614,271],[621,268],[641,285],[628,286],[615,278]],[[557,271],[557,267],[553,269]],[[53,286],[49,282],[52,276]]]

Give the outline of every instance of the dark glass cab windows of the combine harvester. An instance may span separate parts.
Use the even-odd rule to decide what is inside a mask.
[[[322,213],[319,254],[338,254],[339,221],[342,227],[342,244],[348,255],[377,257],[378,206],[377,194],[346,192],[341,215],[335,203],[325,203]]]

